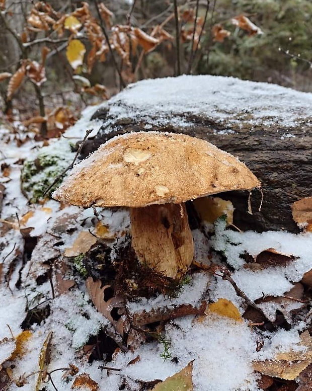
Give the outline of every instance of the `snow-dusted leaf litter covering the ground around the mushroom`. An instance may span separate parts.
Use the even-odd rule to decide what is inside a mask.
[[[100,124],[89,118],[96,109],[88,108],[64,135],[82,139],[90,127],[95,134]],[[62,142],[61,151],[69,164],[73,153],[68,140]],[[29,135],[18,145],[10,130],[2,127],[0,143],[2,163],[10,167],[2,179],[0,242],[0,364],[8,390],[20,389],[21,384],[21,389],[47,391],[55,387],[59,391],[77,387],[162,390],[172,379],[186,376],[190,390],[259,391],[264,389],[261,373],[273,381],[297,379],[302,388],[311,363],[310,286],[305,282],[312,269],[311,232],[236,232],[218,218],[214,233],[207,236],[200,229],[193,231],[196,266],[178,297],[163,293],[133,296],[126,302],[120,300],[119,309],[112,313],[114,305],[111,308],[98,295],[93,297],[92,288],[88,293],[77,265],[80,262],[88,271],[86,255],[93,251],[100,276],[103,265],[109,270],[120,266],[118,246],[128,241],[127,211],[98,209],[94,216],[92,209],[53,200],[29,204],[20,191],[19,159],[30,158],[43,142]],[[50,141],[51,151],[54,143]],[[301,212],[300,208],[294,209],[300,213],[298,222],[309,224],[309,209],[304,206]],[[207,230],[208,225],[211,221]],[[86,234],[91,242],[82,239]],[[219,274],[224,267],[231,270],[239,289]],[[94,284],[103,289],[97,278]],[[133,276],[127,284],[135,291]],[[255,303],[254,312],[241,291]],[[109,300],[115,302],[116,297],[113,294]],[[122,333],[112,328],[118,322],[115,317],[128,321],[146,314],[163,315],[165,321],[157,322],[156,329],[139,325],[139,332],[133,334],[123,324],[130,341],[126,346]],[[140,339],[142,328],[145,335]],[[91,353],[87,354],[88,349]],[[189,365],[192,370],[185,370]],[[177,384],[178,380],[170,387],[175,389]]]

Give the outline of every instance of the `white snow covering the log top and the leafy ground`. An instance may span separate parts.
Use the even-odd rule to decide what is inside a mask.
[[[165,89],[168,92],[166,94]],[[116,105],[117,102],[120,104]],[[94,129],[92,135],[95,135],[100,129],[101,121],[90,121],[90,117],[103,106],[110,107],[109,115],[115,116],[115,119],[141,119],[144,108],[146,128],[169,122],[189,126],[191,122],[187,115],[181,116],[182,112],[198,115],[209,112],[209,116],[217,121],[230,118],[229,124],[237,123],[238,119],[233,113],[242,107],[246,113],[246,120],[255,125],[259,123],[260,118],[267,115],[268,123],[291,127],[300,124],[300,116],[312,116],[312,95],[274,85],[242,82],[231,77],[180,76],[175,79],[139,82],[104,105],[87,108],[81,120],[68,129],[60,140],[50,140],[48,147],[42,147],[41,142],[36,142],[32,138],[18,147],[10,130],[1,127],[1,162],[9,164],[11,172],[9,179],[1,178],[6,187],[1,219],[6,220],[2,224],[7,229],[0,238],[0,364],[1,360],[9,357],[14,348],[8,348],[7,344],[3,343],[5,338],[12,339],[7,325],[10,326],[13,336],[17,337],[22,332],[21,324],[26,317],[26,308],[48,304],[50,315],[40,324],[34,323],[30,327],[33,334],[26,344],[24,355],[3,364],[5,368],[15,365],[14,380],[24,373],[29,376],[27,383],[22,387],[23,390],[36,389],[38,374],[32,373],[39,370],[40,351],[52,331],[51,357],[46,369],[52,371],[75,364],[79,367],[79,373],[89,373],[91,378],[98,382],[99,391],[117,391],[122,379],[126,379],[131,390],[136,390],[139,389],[137,380],[165,380],[192,360],[196,391],[259,391],[259,375],[254,372],[252,361],[273,359],[279,352],[298,349],[299,332],[306,328],[306,320],[291,325],[291,329],[287,331],[277,329],[274,332],[259,332],[257,328],[250,327],[246,320],[236,322],[209,312],[202,317],[187,316],[173,319],[165,325],[162,334],[171,343],[169,351],[174,360],[169,358],[164,361],[161,357],[164,351],[161,342],[144,343],[134,351],[116,352],[113,360],[106,365],[120,371],[111,370],[108,375],[106,370],[98,368],[102,361],[88,363],[83,354],[83,346],[90,336],[96,336],[99,330],[108,327],[109,322],[91,303],[81,276],[73,276],[72,272],[66,271],[65,278],[72,279],[75,285],[63,294],[58,294],[53,277],[54,298],[49,281],[38,283],[40,277],[48,270],[51,259],[62,261],[66,266],[72,264],[72,260],[63,258],[64,250],[72,245],[82,230],[90,229],[93,232],[99,220],[108,227],[112,238],[122,236],[122,241],[125,233],[129,232],[129,214],[126,209],[98,208],[98,220],[94,217],[92,209],[60,206],[54,200],[49,200],[44,205],[29,205],[20,190],[21,165],[17,162],[18,159],[31,158],[35,151],[50,153],[57,149],[59,154],[64,156],[64,162],[70,163],[73,153],[70,151],[68,138],[75,142],[76,139],[84,137],[89,128]],[[173,119],[169,119],[168,113],[173,114]],[[110,121],[112,122],[113,118],[108,119],[105,131],[110,130]],[[223,132],[232,131],[229,128]],[[281,137],[293,137],[293,134],[289,130],[289,133],[283,133]],[[21,220],[29,211],[33,214],[23,227],[33,227],[29,236],[38,238],[38,242],[30,258],[23,258],[25,242],[16,213]],[[9,223],[14,227],[9,229]],[[226,259],[232,270],[232,279],[250,300],[259,299],[263,295],[282,296],[293,287],[294,282],[301,280],[305,272],[312,269],[311,233],[236,232],[225,228],[223,221],[220,220],[214,226],[212,237],[206,237],[198,229],[193,231],[193,237],[196,261],[205,265],[212,261],[224,266],[223,259]],[[111,239],[105,243],[112,249],[116,244]],[[282,254],[293,256],[293,260],[286,265],[253,270],[247,267],[242,258],[246,253],[255,257],[262,251],[272,248]],[[193,272],[190,282],[184,286],[184,291],[178,298],[169,300],[163,295],[158,295],[131,301],[127,303],[127,307],[130,313],[163,307],[174,309],[181,304],[190,304],[198,308],[203,300],[215,302],[219,298],[230,300],[237,306],[240,314],[244,314],[246,303],[237,295],[229,281],[207,271]],[[272,321],[277,309],[286,310],[284,304],[278,302],[264,302],[259,306],[268,317],[271,316]],[[291,303],[287,307],[287,312],[299,307],[299,302]],[[291,322],[291,319],[287,321]],[[257,352],[259,340],[264,342],[264,346]],[[139,359],[129,364],[136,357]],[[69,376],[66,382],[62,380],[62,375],[61,370],[52,373],[53,382],[59,391],[70,389],[73,380]],[[13,382],[9,391],[17,389],[20,388]],[[54,389],[51,382],[45,383],[45,389]]]

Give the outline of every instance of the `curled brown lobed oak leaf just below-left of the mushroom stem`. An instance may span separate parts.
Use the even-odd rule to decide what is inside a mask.
[[[125,319],[122,316],[124,313],[124,299],[113,296],[113,289],[110,285],[102,287],[100,280],[93,281],[91,277],[87,279],[86,287],[97,310],[111,322],[116,331],[123,337],[125,331]],[[116,317],[114,314],[118,316]]]

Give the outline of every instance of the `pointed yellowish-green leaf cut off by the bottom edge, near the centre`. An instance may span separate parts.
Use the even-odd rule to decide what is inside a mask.
[[[154,386],[152,391],[193,391],[193,361],[173,376]]]

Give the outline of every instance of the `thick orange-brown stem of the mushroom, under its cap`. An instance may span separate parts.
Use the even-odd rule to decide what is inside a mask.
[[[138,260],[167,277],[180,278],[194,256],[185,204],[130,208],[132,247]]]

